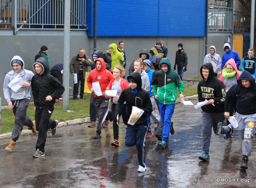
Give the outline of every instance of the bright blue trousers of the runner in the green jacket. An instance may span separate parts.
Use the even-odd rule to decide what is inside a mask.
[[[163,140],[166,141],[170,134],[171,118],[175,104],[164,105],[158,101],[158,105],[160,108],[161,121],[164,122]]]

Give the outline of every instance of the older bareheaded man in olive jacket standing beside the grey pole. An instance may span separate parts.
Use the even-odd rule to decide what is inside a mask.
[[[77,83],[74,83],[74,90],[73,90],[73,99],[77,99],[78,95],[78,87],[79,82],[80,84],[80,98],[84,98],[84,81],[85,81],[85,72],[88,71],[88,66],[92,65],[92,61],[90,58],[85,55],[85,49],[81,48],[79,53],[74,56],[69,64],[70,73],[72,76],[77,74]]]

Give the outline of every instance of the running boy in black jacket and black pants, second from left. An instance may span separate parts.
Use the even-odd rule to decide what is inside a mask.
[[[59,98],[65,89],[57,78],[47,73],[47,63],[43,57],[36,60],[33,69],[36,75],[32,77],[31,88],[35,104],[36,130],[39,131],[33,157],[42,157],[47,130],[52,129],[52,135],[57,132],[58,120],[50,119],[55,99]]]

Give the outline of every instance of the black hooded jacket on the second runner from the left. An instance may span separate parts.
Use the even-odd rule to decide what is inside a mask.
[[[43,67],[43,73],[41,75],[35,70],[36,63]],[[47,73],[47,62],[43,57],[36,60],[36,62],[33,64],[33,69],[36,72],[36,75],[32,77],[31,89],[35,106],[53,106],[55,99],[59,98],[63,94],[65,88],[57,78]],[[48,95],[52,97],[51,101],[45,100]]]

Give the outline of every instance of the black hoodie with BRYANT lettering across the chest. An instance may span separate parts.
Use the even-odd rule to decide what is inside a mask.
[[[209,75],[207,80],[204,79],[202,73],[203,66],[209,68]],[[200,69],[200,73],[203,80],[201,80],[197,85],[198,101],[203,102],[205,99],[213,99],[214,106],[212,104],[204,105],[201,107],[201,109],[204,112],[222,113],[224,112],[224,103],[226,97],[226,92],[223,83],[219,79],[214,77],[212,63],[206,63],[203,66]]]

